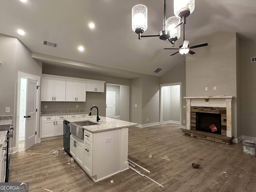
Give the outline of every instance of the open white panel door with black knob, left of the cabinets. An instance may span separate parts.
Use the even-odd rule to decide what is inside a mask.
[[[36,142],[36,96],[37,80],[27,79],[27,104],[25,125],[25,150]]]

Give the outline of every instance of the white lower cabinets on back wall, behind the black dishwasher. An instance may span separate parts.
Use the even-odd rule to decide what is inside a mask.
[[[67,115],[43,116],[41,138],[63,135],[63,118],[67,118]]]

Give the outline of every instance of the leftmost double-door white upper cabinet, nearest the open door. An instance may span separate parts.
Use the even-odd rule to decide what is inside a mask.
[[[65,101],[66,78],[42,75],[41,101]]]

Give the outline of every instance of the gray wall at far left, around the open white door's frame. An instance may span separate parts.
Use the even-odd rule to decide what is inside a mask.
[[[17,38],[0,34],[0,116],[13,115],[16,127],[16,102],[18,71],[41,76],[42,62],[31,58],[31,51]],[[10,107],[10,113],[5,113]],[[14,132],[13,138],[16,138]],[[12,140],[12,148],[16,146]]]

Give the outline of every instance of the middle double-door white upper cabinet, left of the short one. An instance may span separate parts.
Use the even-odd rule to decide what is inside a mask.
[[[66,79],[66,101],[86,101],[86,81]]]

